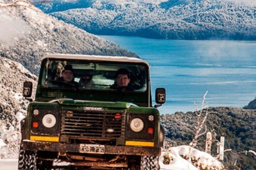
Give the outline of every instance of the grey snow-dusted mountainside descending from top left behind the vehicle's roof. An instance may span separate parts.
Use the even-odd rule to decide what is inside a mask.
[[[38,74],[49,53],[138,57],[98,36],[43,13],[28,1],[0,1],[0,56]]]

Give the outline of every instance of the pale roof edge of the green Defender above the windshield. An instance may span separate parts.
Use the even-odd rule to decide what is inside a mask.
[[[144,61],[135,57],[123,57],[123,56],[120,57],[120,56],[81,55],[81,54],[50,54],[50,55],[44,56],[41,60],[44,60],[45,58],[144,63],[147,66],[149,66],[149,63],[147,61]]]

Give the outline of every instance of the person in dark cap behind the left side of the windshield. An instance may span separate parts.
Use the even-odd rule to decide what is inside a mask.
[[[78,82],[74,81],[74,70],[72,68],[72,65],[66,65],[64,67],[64,70],[61,73],[61,77],[59,78],[59,81],[68,82],[69,84],[78,86]]]

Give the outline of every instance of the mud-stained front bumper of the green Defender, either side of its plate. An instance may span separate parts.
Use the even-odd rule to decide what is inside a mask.
[[[41,142],[23,140],[21,146],[24,150],[41,150],[49,152],[76,152],[79,153],[80,144],[67,144],[62,142]],[[109,146],[105,145],[104,154],[160,156],[161,148],[139,146]]]

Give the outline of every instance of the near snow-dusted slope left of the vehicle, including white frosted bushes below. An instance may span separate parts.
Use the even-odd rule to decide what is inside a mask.
[[[19,121],[26,115],[28,101],[22,97],[24,81],[37,85],[37,76],[20,63],[0,57],[0,159],[16,159],[20,142]]]

